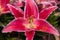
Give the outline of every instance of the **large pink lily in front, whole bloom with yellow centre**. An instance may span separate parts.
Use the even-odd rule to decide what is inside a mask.
[[[48,7],[39,12],[34,0],[26,0],[24,12],[13,5],[8,7],[15,19],[13,19],[2,33],[7,32],[25,32],[26,40],[33,40],[35,31],[42,31],[59,36],[59,32],[46,19],[57,9],[57,6]]]

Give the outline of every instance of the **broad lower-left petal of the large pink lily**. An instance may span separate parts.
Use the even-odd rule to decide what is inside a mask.
[[[3,33],[12,32],[12,31],[25,32],[27,28],[24,26],[24,24],[28,24],[28,22],[25,19],[16,18],[12,20],[6,27],[4,27],[2,32]]]

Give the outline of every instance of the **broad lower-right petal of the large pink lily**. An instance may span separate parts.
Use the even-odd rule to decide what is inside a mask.
[[[46,20],[44,19],[36,20],[35,23],[37,24],[36,30],[59,36],[59,32]]]

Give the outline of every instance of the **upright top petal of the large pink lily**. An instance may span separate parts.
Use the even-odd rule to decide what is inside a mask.
[[[24,11],[25,11],[26,18],[31,17],[31,16],[37,18],[38,16],[38,8],[34,0],[26,0]]]

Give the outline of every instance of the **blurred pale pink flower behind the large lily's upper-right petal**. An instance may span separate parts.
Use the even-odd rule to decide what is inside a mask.
[[[55,1],[49,1],[49,0],[35,0],[38,8],[40,11],[44,8],[50,7],[50,6],[57,6],[57,3]]]

